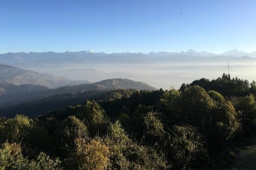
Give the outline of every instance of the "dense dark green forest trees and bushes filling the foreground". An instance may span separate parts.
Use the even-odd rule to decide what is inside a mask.
[[[109,92],[35,119],[1,117],[0,169],[225,167],[256,133],[255,87],[223,74],[179,90]]]

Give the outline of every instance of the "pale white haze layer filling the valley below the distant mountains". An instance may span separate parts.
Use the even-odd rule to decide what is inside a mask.
[[[91,70],[88,68],[92,68]],[[53,73],[74,80],[98,82],[108,78],[128,78],[146,82],[156,88],[179,88],[181,84],[191,83],[195,79],[216,79],[223,72],[228,73],[228,62],[199,63],[156,63],[156,64],[93,64],[93,65],[59,65],[48,67],[26,67],[41,73]],[[75,69],[75,70],[72,70]],[[85,69],[85,70],[84,70]],[[81,71],[82,70],[82,71]],[[98,70],[100,72],[95,72]],[[231,77],[255,80],[256,62],[231,62]],[[119,76],[119,77],[118,77]]]

